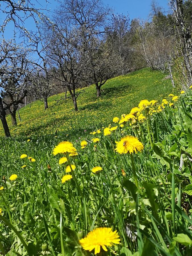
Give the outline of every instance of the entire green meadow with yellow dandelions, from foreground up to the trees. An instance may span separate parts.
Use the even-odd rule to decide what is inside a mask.
[[[164,77],[85,88],[77,113],[52,96],[1,130],[1,255],[191,255],[192,91]]]

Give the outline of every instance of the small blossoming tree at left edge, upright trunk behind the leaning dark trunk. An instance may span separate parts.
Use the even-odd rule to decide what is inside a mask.
[[[30,50],[18,46],[14,40],[0,42],[0,91],[4,110],[9,110],[12,124],[17,125],[16,110],[18,104],[24,104],[31,72],[30,60],[27,58]],[[5,100],[7,98],[7,100]]]

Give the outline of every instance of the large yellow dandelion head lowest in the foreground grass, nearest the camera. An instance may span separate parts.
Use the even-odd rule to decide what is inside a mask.
[[[107,251],[106,246],[111,247],[113,244],[119,244],[120,239],[117,231],[112,228],[96,228],[89,232],[85,238],[79,240],[80,245],[86,251],[92,251],[94,254],[100,253],[100,247]]]

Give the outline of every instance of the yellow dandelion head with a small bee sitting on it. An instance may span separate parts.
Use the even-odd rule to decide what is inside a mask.
[[[137,151],[143,150],[143,144],[133,136],[126,136],[122,138],[119,142],[116,143],[115,150],[119,154],[132,154],[133,152],[137,153]]]

